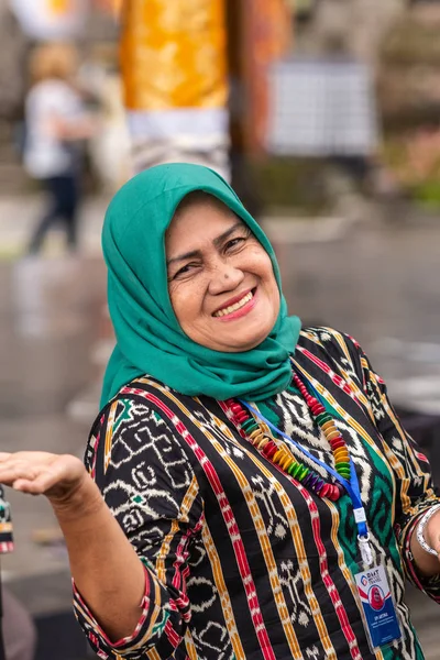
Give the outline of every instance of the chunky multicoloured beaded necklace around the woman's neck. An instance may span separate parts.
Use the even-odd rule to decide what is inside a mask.
[[[334,424],[334,419],[322,404],[308,392],[306,385],[297,374],[294,374],[294,384],[302,395],[311,417],[319,428],[322,429],[331,447],[336,471],[343,479],[350,480],[349,449]],[[285,446],[278,447],[264,433],[258,421],[252,417],[241,403],[231,398],[221,402],[220,405],[237,427],[240,436],[251,442],[272,463],[282,468],[286,474],[293,476],[319,497],[327,497],[332,502],[337,502],[340,498],[342,487],[339,484],[326,482],[315,470],[297,461]]]

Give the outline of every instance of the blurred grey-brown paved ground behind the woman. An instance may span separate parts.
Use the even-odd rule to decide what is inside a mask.
[[[99,343],[106,326],[99,256],[106,200],[87,204],[80,255],[64,257],[61,235],[55,235],[44,258],[22,258],[40,204],[40,198],[0,198],[2,449],[81,454],[106,351]],[[400,405],[440,415],[440,218],[413,215],[405,223],[387,226],[376,210],[371,208],[367,222],[265,223],[289,308],[308,322],[349,331]],[[14,493],[11,502],[16,551],[2,559],[3,579],[38,618],[38,660],[78,660],[85,651],[69,614],[65,551],[35,542],[35,530],[54,525],[51,509],[43,499]],[[427,659],[435,660],[439,610],[418,594],[410,593],[409,600]],[[55,615],[63,619],[56,644],[51,638]]]

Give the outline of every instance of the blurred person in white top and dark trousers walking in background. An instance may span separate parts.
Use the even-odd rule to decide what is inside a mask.
[[[77,68],[77,51],[70,44],[43,44],[31,54],[24,165],[46,189],[48,207],[31,237],[30,254],[40,251],[48,230],[59,220],[64,222],[68,249],[77,248],[81,147],[95,131],[76,86]]]

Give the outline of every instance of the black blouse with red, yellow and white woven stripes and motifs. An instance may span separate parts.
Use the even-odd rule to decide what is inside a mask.
[[[409,552],[418,518],[440,501],[428,461],[351,338],[326,328],[304,330],[293,367],[334,411],[350,448],[403,639],[370,650],[355,598],[360,558],[349,496],[320,499],[242,439],[216,400],[179,395],[145,376],[100,413],[86,454],[146,578],[136,629],[116,644],[75,590],[79,623],[100,658],[424,658],[405,604],[405,578],[440,602],[439,579],[422,580]],[[334,466],[296,389],[257,408]],[[299,450],[287,449],[332,479]]]

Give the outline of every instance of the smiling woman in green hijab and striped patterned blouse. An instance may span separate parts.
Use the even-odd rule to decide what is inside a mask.
[[[273,249],[216,173],[114,197],[117,345],[86,469],[0,454],[44,493],[100,658],[422,660],[405,578],[440,602],[440,498],[359,344],[289,317]]]

